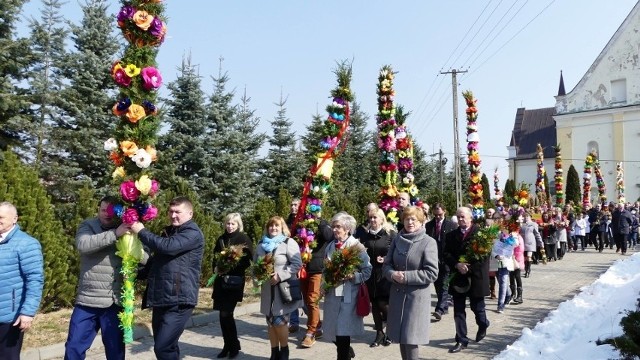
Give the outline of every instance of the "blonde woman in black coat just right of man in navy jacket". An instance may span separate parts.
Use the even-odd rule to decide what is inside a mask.
[[[242,218],[238,213],[231,213],[224,218],[225,232],[218,240],[213,249],[214,254],[218,254],[224,248],[231,245],[244,245],[242,250],[242,259],[236,267],[229,270],[225,274],[216,276],[213,282],[213,310],[220,313],[220,329],[222,330],[222,338],[224,339],[224,347],[218,354],[218,358],[229,357],[234,359],[240,352],[240,340],[238,340],[238,331],[236,329],[236,321],[233,318],[233,312],[239,301],[242,301],[244,295],[244,279],[245,271],[251,265],[253,259],[253,243],[251,239],[242,232]],[[212,264],[214,273],[217,273],[215,260]],[[235,280],[235,281],[234,281]],[[235,283],[235,284],[234,284]]]

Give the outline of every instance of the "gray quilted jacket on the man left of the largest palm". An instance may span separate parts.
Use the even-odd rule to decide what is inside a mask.
[[[120,303],[122,259],[116,255],[115,229],[103,229],[98,218],[82,222],[76,232],[80,276],[76,304],[107,308]]]

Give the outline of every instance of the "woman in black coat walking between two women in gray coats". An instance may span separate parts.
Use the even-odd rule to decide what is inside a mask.
[[[364,227],[366,231],[361,233],[359,240],[367,249],[367,255],[369,255],[373,267],[371,277],[369,277],[366,284],[367,290],[369,290],[369,298],[371,299],[371,312],[376,329],[376,338],[369,346],[388,346],[391,341],[384,333],[384,324],[387,321],[387,313],[389,311],[391,283],[385,278],[382,272],[382,265],[396,232],[387,223],[384,211],[381,209],[372,209],[367,215],[369,223]]]

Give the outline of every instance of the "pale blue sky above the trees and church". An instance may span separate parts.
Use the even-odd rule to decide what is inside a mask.
[[[442,146],[453,154],[451,75],[459,92],[478,99],[479,152],[483,172],[501,185],[508,175],[506,146],[518,107],[555,105],[560,70],[569,92],[618,29],[635,0],[448,1],[165,1],[168,37],[158,64],[175,79],[183,56],[199,64],[203,89],[212,91],[219,58],[230,89],[244,88],[270,134],[280,93],[298,135],[316,112],[325,114],[335,85],[335,62],[353,59],[352,90],[375,127],[378,70],[398,72],[396,103],[413,112],[408,126],[427,153]],[[116,13],[120,2],[110,1]],[[25,6],[25,22],[40,2]],[[77,22],[76,1],[64,7]],[[115,20],[114,20],[115,28]],[[24,28],[21,29],[24,31]],[[459,97],[461,151],[466,150],[464,101]],[[451,159],[452,160],[452,159]],[[453,161],[449,161],[451,164]],[[545,167],[553,167],[552,160]],[[547,170],[549,171],[549,170]]]

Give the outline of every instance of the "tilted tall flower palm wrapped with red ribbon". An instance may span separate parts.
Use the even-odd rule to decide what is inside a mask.
[[[316,234],[322,207],[331,188],[331,175],[335,158],[346,146],[346,133],[349,129],[349,104],[353,101],[351,94],[351,63],[343,61],[334,70],[337,86],[331,90],[332,101],[327,105],[328,116],[324,121],[322,140],[315,148],[310,149],[316,156],[304,183],[300,207],[296,214],[292,229],[294,238],[300,246],[300,254],[304,264],[311,260],[311,252],[316,247]],[[304,268],[301,277],[304,277]]]

